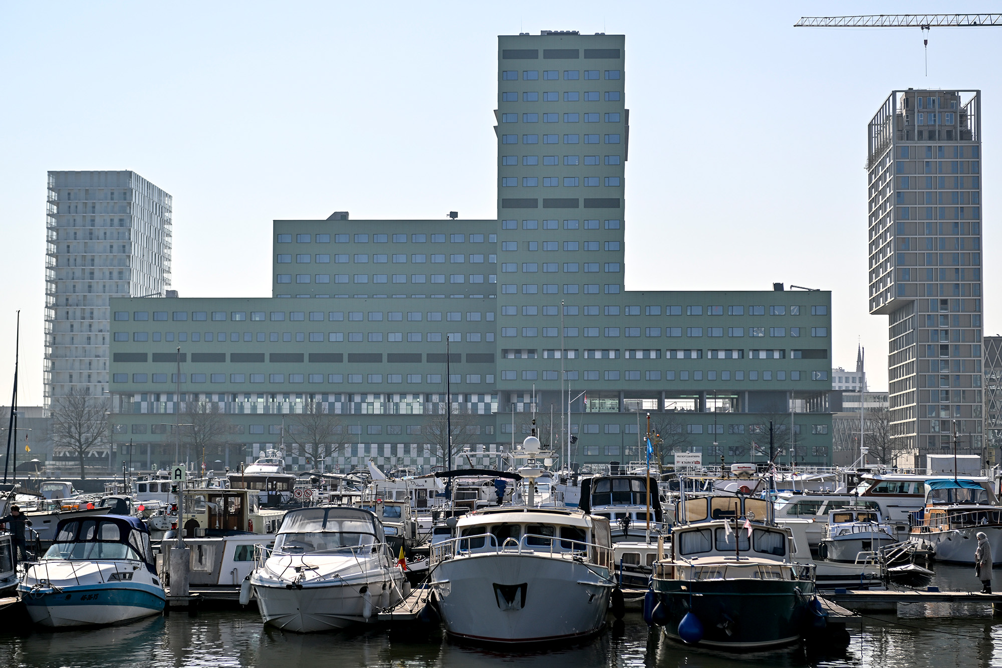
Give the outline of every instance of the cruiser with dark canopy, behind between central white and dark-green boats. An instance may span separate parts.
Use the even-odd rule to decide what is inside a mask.
[[[648,485],[649,482],[649,485]],[[649,502],[647,489],[650,489]],[[612,541],[645,541],[650,534],[661,531],[660,494],[657,479],[645,475],[595,475],[581,480],[579,507],[585,513],[609,521]]]

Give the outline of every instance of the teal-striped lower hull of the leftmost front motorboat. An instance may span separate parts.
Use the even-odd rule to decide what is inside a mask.
[[[48,627],[120,624],[163,611],[163,590],[151,586],[83,586],[59,591],[22,592],[28,615]]]

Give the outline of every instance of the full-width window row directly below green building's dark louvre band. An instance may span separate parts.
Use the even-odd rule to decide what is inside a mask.
[[[169,376],[169,381],[168,381]],[[607,381],[636,381],[636,380],[647,380],[647,381],[687,381],[687,380],[706,380],[706,381],[801,381],[801,380],[828,380],[828,371],[811,371],[808,372],[801,371],[640,371],[640,370],[626,370],[626,371],[597,371],[588,370],[581,371],[580,374],[577,371],[564,371],[565,380],[607,380]],[[444,382],[443,374],[441,373],[230,373],[228,374],[228,381],[226,379],[227,374],[225,373],[182,373],[180,374],[181,383],[265,383],[266,378],[268,378],[268,383],[277,385],[285,384],[287,382],[293,384],[299,383],[312,383],[312,384],[332,384],[332,383],[362,383],[365,382],[370,385],[387,383],[415,383],[415,384],[431,384],[438,385]],[[365,380],[363,380],[363,378]],[[556,370],[547,371],[522,371],[522,380],[559,380],[560,372]],[[127,373],[114,373],[111,377],[114,383],[127,383],[129,382],[129,374]],[[518,380],[518,372],[513,370],[501,371],[501,380]],[[178,377],[176,373],[166,374],[166,373],[133,373],[132,382],[143,384],[143,383],[167,383],[176,384],[178,382]],[[454,373],[450,375],[450,383],[462,383],[466,382],[468,384],[478,384],[478,383],[494,383],[495,376],[492,373],[479,374],[479,373],[468,373],[459,374]]]

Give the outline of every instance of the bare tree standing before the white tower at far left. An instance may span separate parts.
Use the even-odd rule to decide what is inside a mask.
[[[80,477],[86,477],[86,457],[108,445],[110,423],[108,400],[71,387],[68,394],[56,399],[52,410],[52,440],[55,448],[77,456]],[[108,453],[110,456],[110,451]]]

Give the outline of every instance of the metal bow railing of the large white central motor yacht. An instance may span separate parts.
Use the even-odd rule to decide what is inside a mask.
[[[540,534],[509,537],[501,543],[498,543],[498,537],[493,534],[478,534],[449,539],[431,546],[432,565],[455,557],[474,555],[549,555],[560,559],[587,561],[606,568],[612,568],[615,562],[615,554],[608,546]]]

